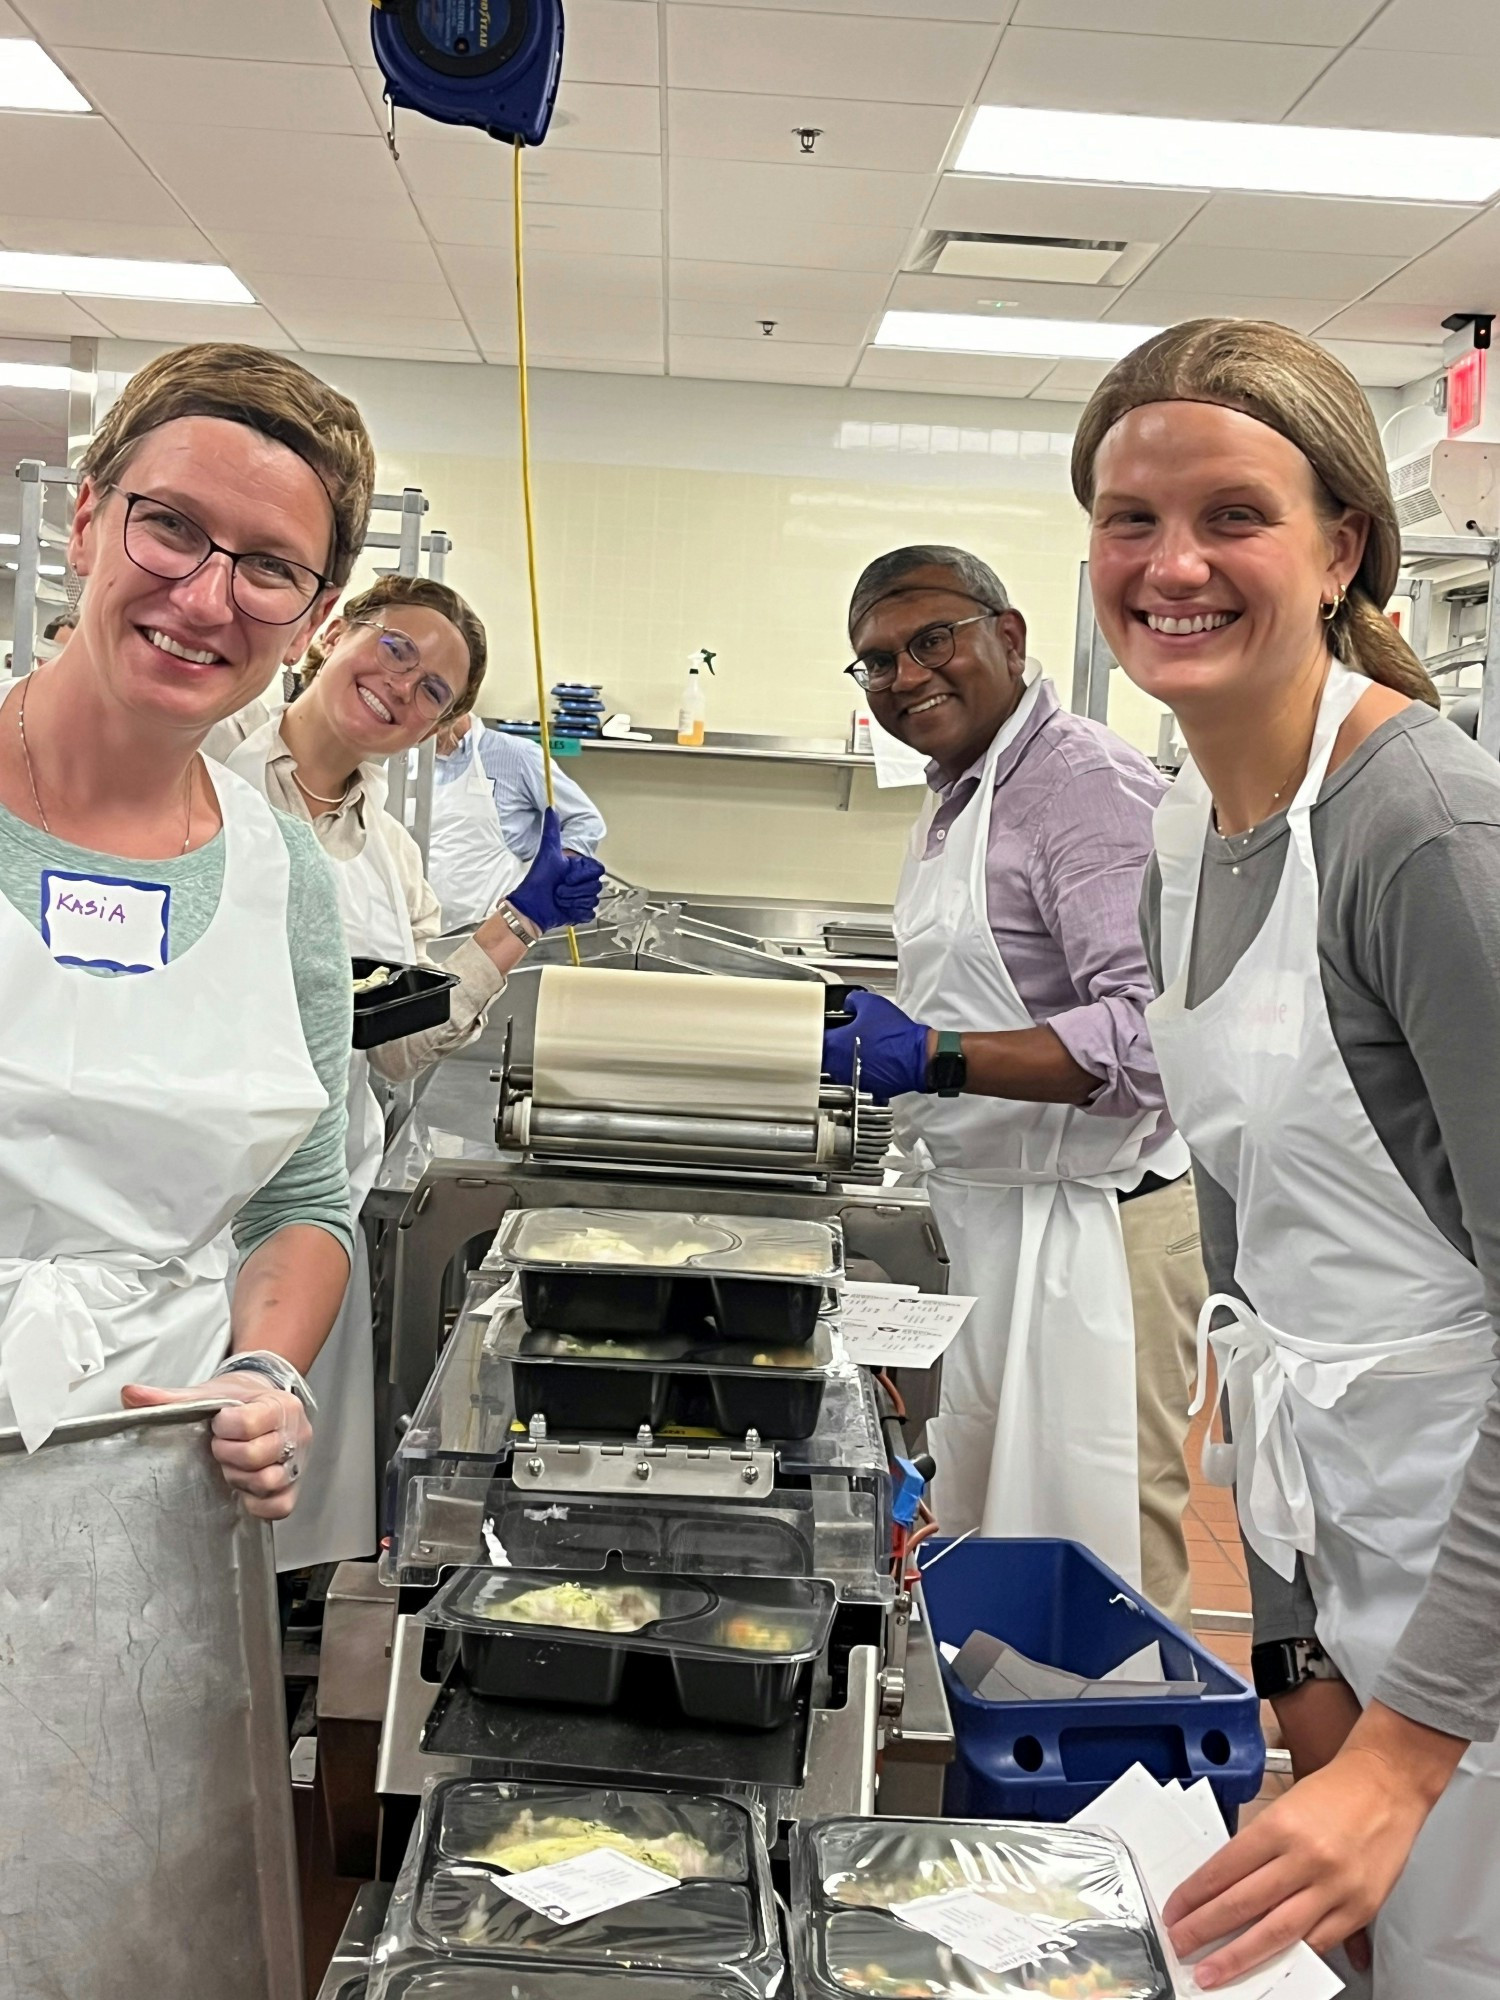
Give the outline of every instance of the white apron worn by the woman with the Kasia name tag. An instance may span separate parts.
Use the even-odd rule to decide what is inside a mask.
[[[36,1448],[230,1346],[228,1226],[328,1104],[286,948],[286,842],[214,764],[224,886],[154,972],[60,966],[0,896],[0,1426]],[[150,862],[122,862],[150,882]]]

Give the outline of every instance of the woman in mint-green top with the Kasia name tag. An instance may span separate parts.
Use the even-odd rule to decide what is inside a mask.
[[[348,1280],[350,974],[308,830],[198,748],[300,658],[374,454],[304,368],[214,344],[142,368],[80,470],[78,630],[0,706],[0,1424],[34,1448],[214,1376],[214,1454],[278,1518]]]

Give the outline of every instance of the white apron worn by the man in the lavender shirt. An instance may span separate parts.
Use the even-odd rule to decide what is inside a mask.
[[[1036,684],[990,744],[944,852],[922,858],[936,798],[912,836],[894,916],[896,1000],[934,1028],[1036,1026],[986,908],[996,762],[1034,704]],[[1116,1188],[1140,1178],[1156,1114],[906,1096],[896,1116],[904,1142],[920,1138],[932,1160],[928,1198],[952,1286],[978,1298],[944,1356],[928,1424],[944,1532],[1066,1536],[1138,1588],[1136,1330]]]

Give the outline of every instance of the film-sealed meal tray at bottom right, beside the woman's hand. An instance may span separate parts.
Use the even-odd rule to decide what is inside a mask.
[[[992,1972],[894,1904],[970,1890],[1036,1920],[1038,1956]],[[1134,1862],[1112,1834],[1022,1820],[812,1820],[792,1846],[806,2000],[1170,2000]]]

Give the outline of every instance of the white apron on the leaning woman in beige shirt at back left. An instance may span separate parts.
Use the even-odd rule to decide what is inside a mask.
[[[284,750],[280,716],[254,730],[228,758],[264,788],[266,762]],[[378,790],[378,786],[376,786]],[[328,858],[344,918],[350,958],[384,958],[412,964],[416,942],[406,892],[390,848],[380,838],[380,800],[366,788],[368,830],[354,860]],[[314,820],[314,832],[318,822]],[[370,1058],[350,1050],[348,1068],[348,1184],[354,1256],[344,1304],[328,1340],[308,1372],[318,1398],[318,1424],[302,1472],[296,1512],[276,1522],[276,1568],[304,1570],[318,1562],[348,1562],[374,1554],[374,1320],[370,1310],[370,1254],[360,1228],[360,1208],[380,1172],[386,1126],[370,1088]]]

